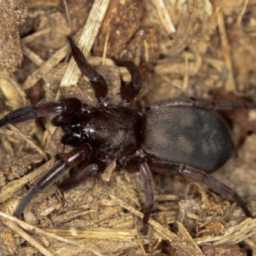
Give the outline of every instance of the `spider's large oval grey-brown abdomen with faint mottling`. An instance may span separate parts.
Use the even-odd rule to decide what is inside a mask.
[[[152,157],[184,163],[211,173],[234,154],[234,145],[221,119],[203,109],[164,107],[143,118],[141,146]]]

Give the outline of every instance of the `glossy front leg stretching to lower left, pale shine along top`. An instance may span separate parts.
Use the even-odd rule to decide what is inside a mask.
[[[61,160],[56,163],[52,168],[45,172],[40,179],[36,180],[33,187],[28,191],[27,195],[22,199],[19,204],[19,207],[14,213],[14,216],[19,217],[29,202],[40,192],[45,191],[45,189],[49,188],[56,180],[58,180],[61,175],[68,169],[76,166],[81,161],[83,161],[84,157],[90,155],[91,148],[84,144],[81,147],[74,148]]]

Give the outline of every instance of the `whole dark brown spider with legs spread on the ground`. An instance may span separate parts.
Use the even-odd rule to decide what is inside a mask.
[[[31,199],[49,188],[68,168],[79,166],[81,172],[64,180],[60,184],[62,189],[73,188],[103,172],[116,158],[127,172],[140,172],[145,191],[144,235],[154,207],[151,172],[185,175],[204,182],[216,193],[235,201],[246,216],[253,217],[234,189],[209,175],[235,152],[227,127],[209,109],[238,111],[255,108],[255,104],[189,97],[166,99],[135,111],[131,103],[140,91],[141,74],[131,61],[115,60],[116,65],[126,67],[131,74],[131,82],[122,85],[122,99],[115,106],[108,99],[104,78],[86,61],[70,36],[68,41],[82,74],[90,79],[99,108],[69,98],[20,108],[0,120],[2,127],[58,114],[52,124],[64,131],[61,143],[74,147],[67,154],[58,155],[58,162],[35,182],[15,216],[20,216]]]

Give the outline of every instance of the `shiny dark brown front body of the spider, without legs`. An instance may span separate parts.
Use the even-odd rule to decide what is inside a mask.
[[[71,114],[68,124],[56,119],[59,116],[52,120],[52,124],[62,127],[66,132],[61,141],[64,144],[76,147],[90,143],[97,153],[108,152],[108,157],[129,156],[140,148],[141,118],[130,108],[97,108],[86,115],[77,114],[76,121]]]

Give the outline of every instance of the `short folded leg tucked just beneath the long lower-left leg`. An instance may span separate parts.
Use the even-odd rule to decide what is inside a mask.
[[[63,180],[63,182],[61,182],[59,186],[63,190],[75,188],[76,186],[79,186],[86,182],[86,180],[91,179],[92,177],[97,175],[97,173],[102,172],[105,168],[106,163],[101,160],[97,160],[94,163],[86,166],[86,168],[83,168],[83,170]]]

